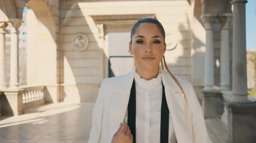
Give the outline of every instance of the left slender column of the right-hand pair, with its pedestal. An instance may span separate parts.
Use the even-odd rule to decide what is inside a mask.
[[[214,86],[213,23],[215,17],[217,15],[213,14],[203,14],[201,16],[206,31],[205,83],[202,100],[202,109],[205,117],[221,116],[224,112],[223,97],[220,90]]]

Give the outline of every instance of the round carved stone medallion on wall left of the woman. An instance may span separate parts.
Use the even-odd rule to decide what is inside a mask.
[[[72,39],[72,45],[76,50],[85,50],[89,39],[84,34],[76,34]]]

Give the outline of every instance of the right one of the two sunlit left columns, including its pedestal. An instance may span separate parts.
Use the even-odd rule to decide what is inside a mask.
[[[10,19],[11,29],[11,74],[10,87],[2,90],[4,94],[1,98],[1,110],[3,115],[21,115],[23,114],[23,89],[18,88],[18,29],[21,25],[21,20]]]

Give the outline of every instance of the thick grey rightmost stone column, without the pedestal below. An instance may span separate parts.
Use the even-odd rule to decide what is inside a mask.
[[[233,100],[247,101],[247,59],[245,34],[245,3],[247,0],[233,0]]]

